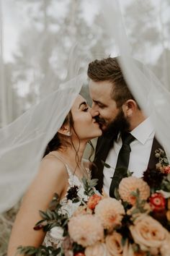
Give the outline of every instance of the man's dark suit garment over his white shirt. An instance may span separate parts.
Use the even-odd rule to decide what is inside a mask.
[[[102,192],[103,187],[103,168],[104,165],[102,164],[102,161],[106,161],[107,155],[109,153],[110,148],[112,148],[113,141],[115,140],[115,137],[99,137],[97,140],[97,148],[95,151],[94,156],[94,166],[92,166],[91,171],[91,178],[92,179],[99,179],[97,184],[97,190],[99,192]],[[158,162],[158,159],[155,156],[155,150],[158,148],[162,148],[162,146],[159,144],[158,140],[156,140],[156,137],[153,138],[153,145],[151,148],[151,155],[148,161],[148,168],[155,168],[156,163]]]

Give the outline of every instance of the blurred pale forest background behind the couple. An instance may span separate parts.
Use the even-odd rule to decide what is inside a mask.
[[[169,0],[141,0],[138,5],[122,0],[120,5],[133,56],[169,89]],[[0,0],[0,19],[0,127],[65,80],[75,43],[81,69],[91,60],[119,54],[114,38],[105,33],[97,0]],[[90,102],[87,84],[82,93]],[[0,216],[0,256],[6,255],[17,208]]]

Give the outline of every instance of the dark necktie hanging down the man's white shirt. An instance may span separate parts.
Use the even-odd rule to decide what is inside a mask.
[[[135,137],[130,133],[122,134],[122,148],[120,148],[120,152],[117,158],[117,164],[115,167],[115,174],[112,177],[112,182],[109,187],[109,196],[115,197],[115,188],[117,188],[120,184],[122,178],[127,176],[128,166],[129,166],[129,158],[130,158],[130,143],[135,140]]]

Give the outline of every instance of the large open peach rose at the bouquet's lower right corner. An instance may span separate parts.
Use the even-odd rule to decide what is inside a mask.
[[[134,225],[130,226],[130,232],[136,244],[143,251],[150,251],[157,255],[167,241],[167,230],[151,216],[141,214],[135,219]]]

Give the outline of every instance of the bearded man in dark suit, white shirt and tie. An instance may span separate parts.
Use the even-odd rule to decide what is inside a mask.
[[[137,177],[156,165],[155,150],[161,148],[154,137],[151,120],[138,106],[123,77],[119,58],[95,60],[89,64],[91,115],[103,131],[97,141],[92,178],[97,189],[114,197],[115,188],[127,171]],[[141,64],[140,64],[141,65]],[[103,165],[103,161],[112,168]]]

